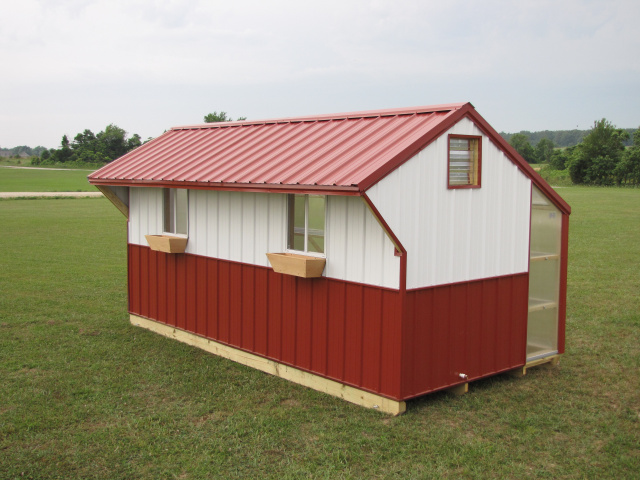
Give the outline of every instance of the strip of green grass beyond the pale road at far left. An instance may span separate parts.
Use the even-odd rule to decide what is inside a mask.
[[[92,192],[92,170],[0,168],[0,192]]]

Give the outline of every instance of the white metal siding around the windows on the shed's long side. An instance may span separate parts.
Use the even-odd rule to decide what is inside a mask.
[[[325,276],[398,288],[400,263],[393,243],[359,197],[327,197]],[[186,252],[268,266],[267,252],[286,248],[286,195],[189,191]],[[132,188],[129,242],[147,245],[162,233],[162,189]]]

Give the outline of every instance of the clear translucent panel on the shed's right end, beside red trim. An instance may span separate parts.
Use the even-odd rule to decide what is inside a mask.
[[[560,293],[560,211],[533,187],[527,358],[553,354],[558,348]]]

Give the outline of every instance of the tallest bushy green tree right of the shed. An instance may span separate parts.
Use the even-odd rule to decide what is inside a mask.
[[[576,184],[611,185],[613,171],[622,158],[624,141],[629,134],[616,128],[606,118],[593,128],[577,146],[569,161],[569,175]]]

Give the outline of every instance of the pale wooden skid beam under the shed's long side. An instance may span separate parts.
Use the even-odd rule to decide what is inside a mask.
[[[149,320],[148,318],[139,317],[133,314],[130,315],[130,321],[137,327],[146,328],[147,330],[159,333],[165,337],[173,338],[188,345],[201,348],[202,350],[214,355],[284,378],[285,380],[298,383],[305,387],[313,388],[319,392],[328,393],[329,395],[342,398],[343,400],[355,403],[362,407],[373,408],[391,415],[400,415],[407,409],[405,402],[391,400],[389,398],[376,395],[375,393],[343,385],[342,383],[334,380],[329,380],[328,378],[320,377],[288,365],[274,362],[273,360],[230,347],[229,345],[218,343],[215,340],[200,337],[170,325],[165,325],[164,323]]]

